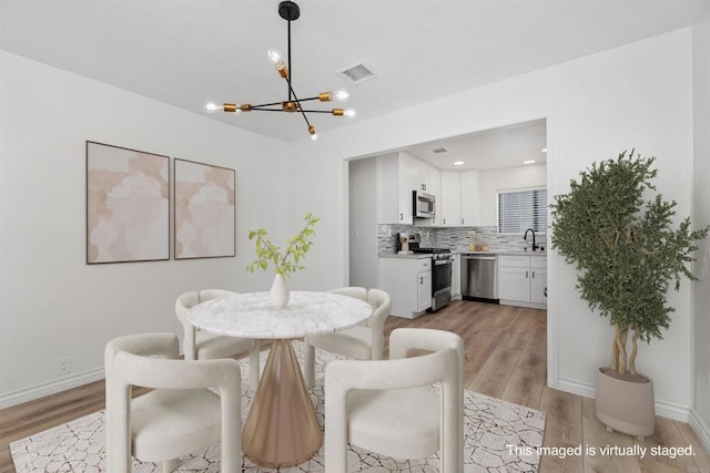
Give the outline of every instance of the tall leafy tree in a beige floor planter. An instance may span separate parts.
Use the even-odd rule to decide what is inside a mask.
[[[580,297],[615,328],[611,363],[597,373],[597,418],[641,439],[653,433],[655,401],[651,380],[636,372],[638,341],[662,339],[671,284],[697,280],[688,265],[708,234],[690,218],[674,224],[676,202],[651,195],[655,160],[625,151],[594,163],[551,205],[552,248],[575,265]]]

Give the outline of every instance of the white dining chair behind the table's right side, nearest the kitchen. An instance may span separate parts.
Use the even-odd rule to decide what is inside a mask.
[[[373,307],[373,315],[355,327],[304,339],[303,367],[308,387],[315,382],[315,348],[355,360],[382,360],[385,348],[385,320],[389,317],[392,309],[387,292],[381,289],[367,290],[364,287],[343,287],[328,292],[365,300]]]

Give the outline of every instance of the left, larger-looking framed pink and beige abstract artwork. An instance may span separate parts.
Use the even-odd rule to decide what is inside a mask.
[[[87,264],[170,259],[170,158],[87,142]]]

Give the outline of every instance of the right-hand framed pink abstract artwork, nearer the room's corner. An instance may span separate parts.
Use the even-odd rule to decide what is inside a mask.
[[[175,259],[235,255],[235,172],[175,160]]]

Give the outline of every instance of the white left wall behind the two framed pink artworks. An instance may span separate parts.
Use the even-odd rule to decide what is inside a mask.
[[[182,291],[268,287],[246,233],[284,234],[284,143],[3,51],[0,69],[0,408],[101,378],[109,339],[178,328]],[[236,257],[85,265],[87,140],[236,169]]]

